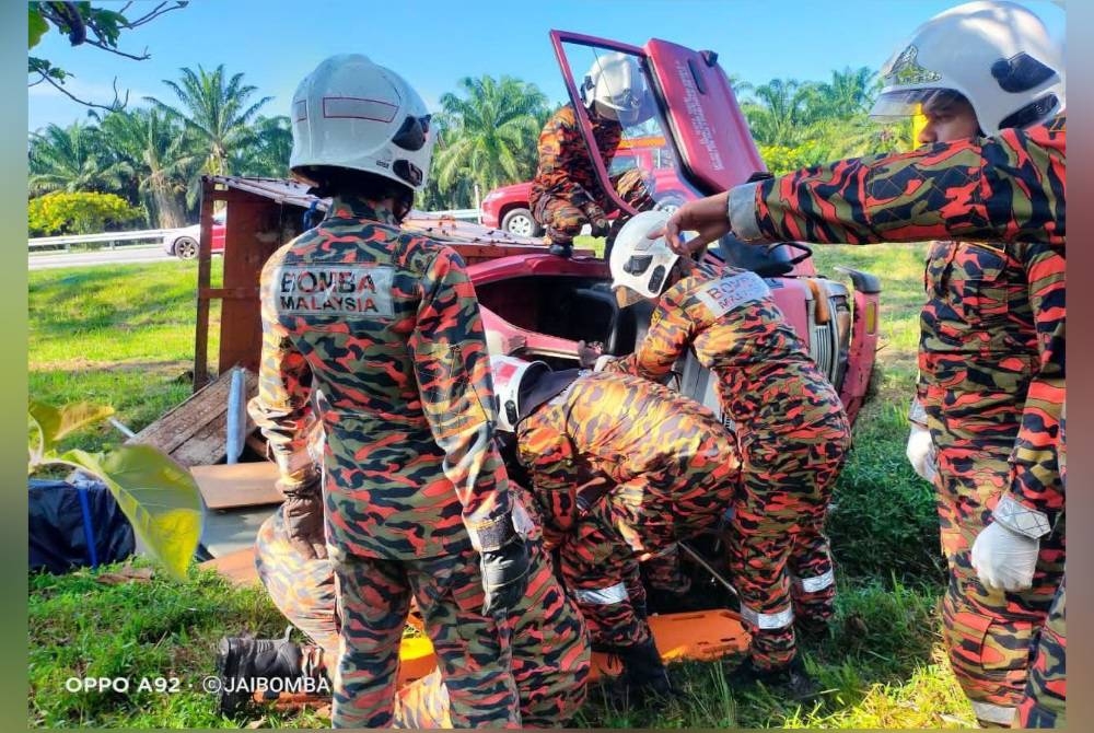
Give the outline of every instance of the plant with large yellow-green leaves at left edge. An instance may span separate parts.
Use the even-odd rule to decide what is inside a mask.
[[[201,537],[203,516],[200,493],[189,473],[151,445],[123,445],[105,453],[58,453],[55,447],[68,433],[113,414],[110,407],[88,403],[58,409],[31,400],[27,474],[56,464],[94,474],[109,488],[152,555],[172,577],[182,580]]]

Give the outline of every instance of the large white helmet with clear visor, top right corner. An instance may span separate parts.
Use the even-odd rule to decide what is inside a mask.
[[[870,115],[906,119],[919,105],[956,92],[993,136],[1062,110],[1062,69],[1061,49],[1029,10],[1001,0],[968,2],[920,25],[885,63],[885,86]]]

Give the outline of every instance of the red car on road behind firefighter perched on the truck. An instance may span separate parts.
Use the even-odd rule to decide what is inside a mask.
[[[676,175],[672,148],[663,136],[645,135],[619,143],[608,166],[608,175],[637,167],[653,178],[653,198],[657,208],[674,211],[684,201],[696,198],[691,189]],[[543,226],[532,218],[528,206],[532,182],[499,186],[482,199],[482,224],[519,236],[543,236]],[[614,219],[616,213],[609,214]]]

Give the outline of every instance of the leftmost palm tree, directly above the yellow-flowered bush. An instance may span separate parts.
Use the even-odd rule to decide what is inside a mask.
[[[98,130],[79,121],[68,127],[50,124],[31,135],[27,184],[32,194],[53,190],[117,193],[119,171],[103,155]]]

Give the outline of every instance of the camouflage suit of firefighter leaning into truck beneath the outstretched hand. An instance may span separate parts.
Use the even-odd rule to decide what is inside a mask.
[[[795,616],[827,621],[836,593],[824,517],[848,449],[839,395],[754,272],[700,265],[662,294],[645,340],[606,370],[668,376],[688,349],[738,427],[744,491],[731,571],[760,668],[789,663]]]

